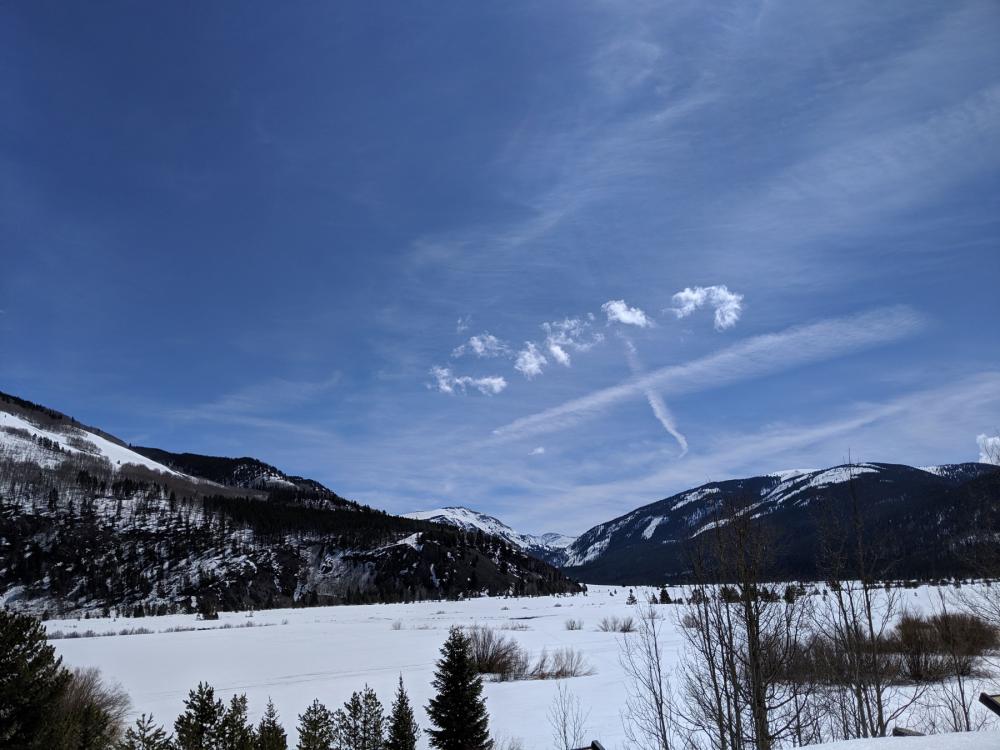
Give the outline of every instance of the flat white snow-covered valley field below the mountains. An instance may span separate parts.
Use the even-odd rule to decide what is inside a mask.
[[[654,593],[654,589],[638,587],[635,591],[640,601]],[[927,606],[934,591],[908,590],[903,594],[908,606],[917,610]],[[339,708],[352,691],[367,684],[388,707],[400,674],[417,718],[426,727],[423,706],[432,695],[434,664],[449,627],[489,625],[505,629],[505,635],[516,639],[532,656],[543,649],[567,646],[585,654],[593,674],[563,682],[589,711],[588,738],[600,740],[611,750],[625,746],[620,716],[625,685],[618,653],[619,639],[629,636],[600,632],[597,626],[604,617],[637,616],[636,608],[625,603],[627,595],[627,588],[591,586],[587,595],[576,596],[284,609],[257,612],[252,617],[222,613],[217,622],[171,615],[114,621],[54,620],[47,626],[50,632],[64,634],[87,630],[117,633],[137,627],[155,631],[63,638],[53,643],[68,665],[99,667],[108,678],[120,682],[132,697],[133,715],[152,712],[157,721],[167,725],[173,723],[188,690],[199,680],[209,682],[226,701],[234,693],[246,693],[254,721],[270,697],[294,746],[297,717],[314,698],[330,709]],[[672,589],[674,595],[683,592]],[[672,609],[661,608],[668,613]],[[570,618],[582,620],[583,629],[566,630]],[[676,656],[681,636],[672,617],[668,622],[667,650]],[[248,623],[253,627],[245,627]],[[171,628],[182,630],[168,632]],[[553,747],[547,713],[557,685],[556,681],[487,682],[494,737],[518,739],[525,750]],[[958,744],[933,747],[1000,748],[1000,733],[955,741]],[[882,740],[874,747],[924,750],[932,745]]]

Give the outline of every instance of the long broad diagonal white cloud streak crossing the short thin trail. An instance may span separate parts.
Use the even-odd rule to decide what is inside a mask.
[[[619,385],[567,401],[516,419],[493,431],[513,439],[565,428],[614,404],[644,395],[691,393],[718,388],[770,373],[820,362],[860,349],[911,336],[923,327],[923,317],[906,306],[883,308],[846,318],[831,318],[779,333],[755,336],[722,351],[682,365],[672,365],[633,377]]]

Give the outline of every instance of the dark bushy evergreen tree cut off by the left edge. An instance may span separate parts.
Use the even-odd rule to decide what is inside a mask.
[[[69,679],[42,624],[0,609],[0,747],[48,747],[49,717]]]

